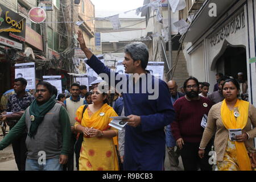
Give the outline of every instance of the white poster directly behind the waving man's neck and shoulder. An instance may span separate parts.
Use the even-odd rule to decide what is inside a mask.
[[[155,77],[163,80],[164,62],[149,61],[146,70],[150,71]]]

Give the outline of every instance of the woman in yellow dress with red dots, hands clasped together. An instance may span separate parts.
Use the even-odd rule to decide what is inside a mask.
[[[109,117],[118,116],[107,104],[106,94],[100,93],[97,86],[93,88],[92,102],[82,117],[84,106],[76,113],[76,131],[84,134],[82,142],[79,170],[80,171],[118,171],[118,157],[114,143],[118,130],[109,126]]]

